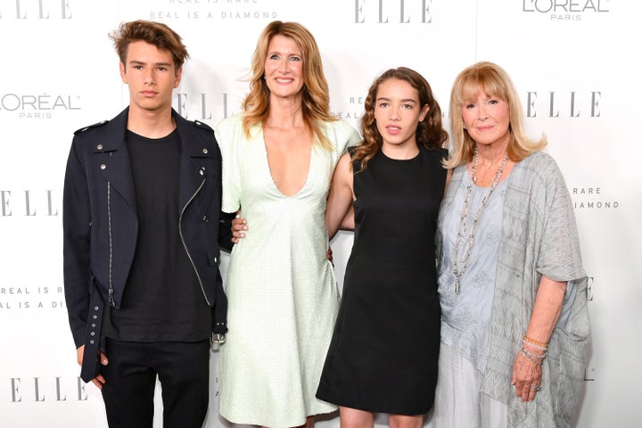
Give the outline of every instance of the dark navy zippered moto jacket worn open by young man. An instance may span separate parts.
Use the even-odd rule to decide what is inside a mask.
[[[215,309],[213,330],[225,333],[219,243],[231,247],[232,217],[220,213],[221,155],[209,126],[188,121],[176,111],[172,116],[182,144],[176,226],[203,299]],[[99,341],[103,304],[120,307],[136,250],[138,220],[125,143],[127,120],[128,108],[114,119],[79,129],[71,144],[62,223],[65,299],[77,347]],[[91,380],[89,375],[93,374],[86,376]]]

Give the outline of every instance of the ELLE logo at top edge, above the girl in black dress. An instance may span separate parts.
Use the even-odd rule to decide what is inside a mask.
[[[355,24],[430,24],[432,0],[354,0]]]

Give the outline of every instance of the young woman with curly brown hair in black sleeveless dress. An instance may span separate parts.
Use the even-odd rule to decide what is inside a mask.
[[[334,170],[325,223],[332,239],[352,204],[355,235],[317,398],[342,428],[420,428],[432,407],[440,346],[434,233],[447,185],[448,134],[415,70],[374,80],[363,141]]]

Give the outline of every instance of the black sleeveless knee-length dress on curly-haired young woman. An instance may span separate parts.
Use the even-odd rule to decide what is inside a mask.
[[[434,235],[447,156],[421,146],[397,161],[379,151],[354,174],[354,244],[318,399],[409,416],[431,409],[440,346]]]

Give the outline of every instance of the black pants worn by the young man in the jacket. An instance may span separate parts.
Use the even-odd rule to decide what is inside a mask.
[[[201,428],[207,413],[210,342],[119,342],[107,339],[103,400],[111,428],[152,428],[156,376],[163,428]]]

